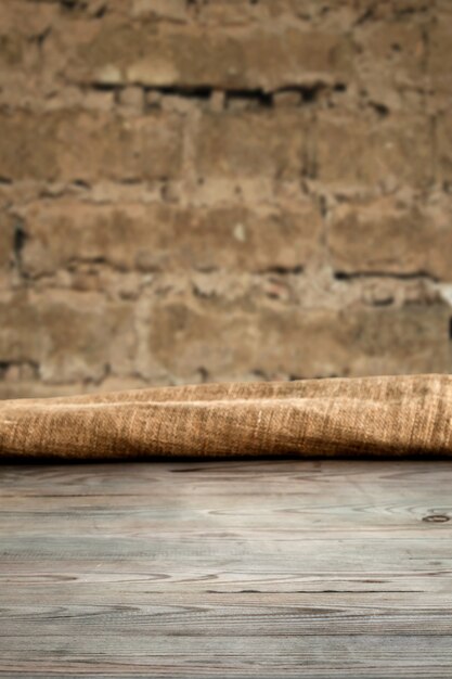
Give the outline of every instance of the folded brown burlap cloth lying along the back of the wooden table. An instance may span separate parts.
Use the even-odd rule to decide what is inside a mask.
[[[452,457],[452,376],[144,388],[0,401],[0,459]]]

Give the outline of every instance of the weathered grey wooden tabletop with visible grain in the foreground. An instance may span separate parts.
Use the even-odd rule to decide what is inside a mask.
[[[0,467],[0,676],[452,677],[452,463]]]

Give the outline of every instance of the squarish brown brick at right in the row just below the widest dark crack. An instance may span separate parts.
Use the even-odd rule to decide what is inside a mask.
[[[432,181],[432,143],[427,117],[393,114],[319,115],[318,177],[340,184],[413,187]]]

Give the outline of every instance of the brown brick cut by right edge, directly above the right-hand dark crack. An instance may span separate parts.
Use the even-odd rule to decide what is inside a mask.
[[[391,197],[339,205],[328,229],[335,271],[428,274],[451,281],[451,207],[445,197],[409,207]]]

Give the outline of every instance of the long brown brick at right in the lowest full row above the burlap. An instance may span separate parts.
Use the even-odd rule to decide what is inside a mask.
[[[443,304],[337,311],[154,300],[148,356],[182,381],[448,372],[449,312]]]

